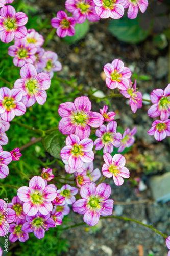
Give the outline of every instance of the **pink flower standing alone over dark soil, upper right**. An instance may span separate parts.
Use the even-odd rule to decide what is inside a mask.
[[[127,90],[129,87],[129,78],[132,73],[129,68],[124,67],[123,61],[114,59],[112,63],[104,66],[106,74],[106,85],[110,89],[118,88],[120,90]]]

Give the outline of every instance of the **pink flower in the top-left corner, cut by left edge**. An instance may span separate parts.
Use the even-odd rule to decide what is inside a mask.
[[[2,42],[11,42],[14,37],[23,38],[27,35],[25,26],[28,17],[23,12],[15,11],[11,5],[4,6],[0,10],[0,39]]]

